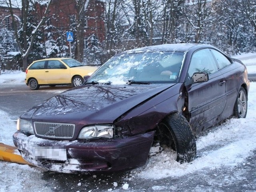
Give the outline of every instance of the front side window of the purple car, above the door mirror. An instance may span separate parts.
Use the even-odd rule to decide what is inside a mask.
[[[192,55],[188,68],[190,77],[196,72],[206,72],[210,75],[216,71],[218,68],[209,49],[199,50]]]

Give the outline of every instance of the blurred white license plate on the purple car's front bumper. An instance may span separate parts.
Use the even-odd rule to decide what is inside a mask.
[[[33,148],[33,158],[35,160],[48,159],[48,160],[67,160],[66,149],[63,147],[56,146],[36,146]]]

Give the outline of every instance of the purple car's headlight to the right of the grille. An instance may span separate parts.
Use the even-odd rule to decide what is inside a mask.
[[[78,135],[78,139],[89,139],[96,137],[112,138],[114,134],[114,126],[112,125],[94,125],[82,128]]]

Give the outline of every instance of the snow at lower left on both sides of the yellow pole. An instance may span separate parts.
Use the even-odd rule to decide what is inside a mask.
[[[0,110],[0,142],[13,146],[14,132],[16,132],[16,122]],[[42,174],[43,170],[40,168],[0,161],[0,192],[31,191],[31,188],[33,191],[50,191],[44,186]]]

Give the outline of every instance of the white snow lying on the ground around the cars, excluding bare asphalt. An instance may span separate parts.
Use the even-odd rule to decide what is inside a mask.
[[[256,73],[256,54],[242,54],[236,58],[248,66],[248,73]],[[0,75],[0,86],[24,84],[24,78],[23,72],[8,71]],[[196,144],[199,158],[190,164],[179,164],[174,161],[172,152],[163,151],[161,154],[152,156],[143,169],[132,170],[130,172],[131,178],[149,180],[167,177],[178,178],[197,171],[204,172],[204,170],[214,170],[222,166],[228,166],[232,169],[241,163],[248,164],[245,161],[246,158],[256,150],[255,111],[256,82],[251,82],[247,117],[245,119],[229,119],[198,137]],[[0,110],[0,142],[13,145],[12,134],[15,131],[15,122],[10,119],[6,112]],[[51,191],[44,185],[45,181],[41,179],[43,173],[44,170],[40,168],[0,161],[0,192]],[[84,184],[86,181],[82,182]],[[108,191],[129,190],[128,184],[129,179],[122,183],[120,181],[113,182],[108,184]],[[32,185],[33,190],[31,190]],[[81,182],[74,183],[74,186],[81,186]],[[100,190],[100,185],[98,190]],[[136,190],[136,188],[132,190]],[[166,186],[152,186],[152,190],[169,191]],[[86,191],[90,191],[90,189]]]

